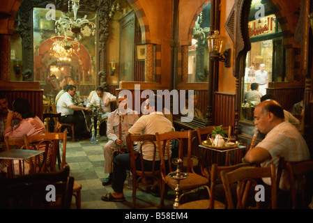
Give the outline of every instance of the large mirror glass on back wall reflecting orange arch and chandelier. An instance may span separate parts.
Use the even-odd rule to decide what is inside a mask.
[[[77,95],[89,95],[96,86],[96,30],[84,25],[82,29],[66,30],[48,20],[49,9],[33,8],[33,80],[40,82],[46,97],[54,98],[64,84],[75,84]],[[96,22],[96,13],[79,10],[66,14],[56,10],[60,17],[75,17]]]

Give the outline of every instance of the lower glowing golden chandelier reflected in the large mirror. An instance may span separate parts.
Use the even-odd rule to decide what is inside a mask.
[[[71,61],[72,54],[75,52],[74,45],[77,45],[77,52],[80,50],[79,43],[76,41],[69,41],[68,38],[56,36],[50,38],[54,43],[50,48],[50,56],[53,56],[57,61]]]

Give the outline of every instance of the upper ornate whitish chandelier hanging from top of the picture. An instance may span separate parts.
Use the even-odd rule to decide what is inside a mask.
[[[70,8],[72,8],[74,18],[61,12],[61,17],[55,23],[55,32],[58,33],[59,36],[74,36],[75,41],[82,39],[83,36],[91,36],[91,34],[94,36],[96,24],[87,20],[87,15],[84,15],[81,19],[77,18],[79,0],[69,0],[68,12],[70,12]]]

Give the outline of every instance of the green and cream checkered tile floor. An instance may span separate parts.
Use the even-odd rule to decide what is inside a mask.
[[[106,137],[101,137],[100,143],[91,144],[89,140],[72,142],[68,140],[66,146],[66,162],[70,165],[70,176],[82,184],[82,209],[132,209],[132,190],[124,186],[126,201],[106,202],[100,197],[112,192],[111,185],[103,186],[102,180],[107,177],[104,173],[105,160],[103,146]],[[147,185],[142,185],[143,189]],[[158,208],[160,197],[137,190],[136,208]],[[171,209],[174,203],[174,192],[169,190],[165,198],[165,208]],[[75,197],[71,208],[75,209]]]

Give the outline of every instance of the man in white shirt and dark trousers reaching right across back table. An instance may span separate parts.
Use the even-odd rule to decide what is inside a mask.
[[[63,93],[56,104],[56,111],[61,112],[61,123],[73,123],[75,139],[79,141],[84,137],[84,130],[86,128],[84,116],[76,113],[76,111],[87,111],[91,112],[90,108],[79,107],[74,105],[72,98],[75,96],[76,86],[68,85],[66,93]]]

